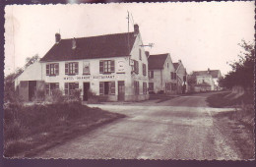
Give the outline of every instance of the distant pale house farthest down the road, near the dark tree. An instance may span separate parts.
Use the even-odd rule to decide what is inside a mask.
[[[220,70],[195,71],[192,76],[196,78],[195,91],[221,90],[218,83],[222,78]]]

